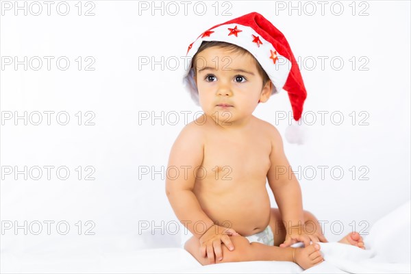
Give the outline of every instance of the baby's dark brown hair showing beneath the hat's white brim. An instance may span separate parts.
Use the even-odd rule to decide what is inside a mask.
[[[269,75],[267,75],[267,73],[264,71],[264,69],[262,69],[262,66],[260,65],[258,60],[251,53],[249,53],[249,51],[247,51],[247,49],[243,49],[242,47],[238,47],[237,45],[234,45],[234,44],[231,44],[231,43],[228,43],[228,42],[221,42],[221,41],[203,41],[203,42],[201,42],[201,45],[200,45],[197,53],[195,53],[195,55],[192,57],[191,68],[193,69],[194,73],[197,73],[197,71],[195,69],[196,66],[197,66],[197,54],[199,54],[201,51],[203,51],[205,49],[208,49],[209,47],[219,47],[221,49],[226,49],[227,51],[230,51],[232,53],[240,53],[242,55],[244,55],[244,54],[251,55],[253,60],[256,61],[258,73],[262,77],[262,86],[264,86],[266,84],[266,82],[269,81],[269,79],[270,79]]]

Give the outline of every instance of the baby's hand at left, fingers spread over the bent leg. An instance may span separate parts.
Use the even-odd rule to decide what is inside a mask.
[[[200,254],[204,258],[208,257],[210,264],[216,260],[223,260],[223,251],[221,251],[221,242],[230,250],[234,250],[234,245],[229,236],[239,235],[234,229],[213,225],[200,238]],[[214,257],[215,253],[215,257]]]

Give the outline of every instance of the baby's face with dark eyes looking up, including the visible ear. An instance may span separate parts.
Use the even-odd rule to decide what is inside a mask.
[[[201,108],[214,121],[219,117],[219,123],[244,121],[259,100],[267,101],[271,95],[271,83],[262,86],[251,54],[210,47],[197,55],[196,66]]]

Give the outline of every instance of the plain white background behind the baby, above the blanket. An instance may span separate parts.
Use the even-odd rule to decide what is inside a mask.
[[[325,236],[338,240],[351,231],[354,223],[365,236],[377,219],[410,199],[408,1],[343,1],[334,4],[334,10],[334,2],[330,1],[324,15],[317,1],[312,5],[295,1],[293,5],[300,7],[297,10],[290,10],[288,1],[212,1],[197,4],[195,10],[192,1],[187,14],[177,1],[179,12],[175,15],[171,14],[175,5],[166,2],[156,3],[163,9],[152,10],[151,1],[92,1],[94,16],[84,16],[93,7],[85,1],[81,16],[77,14],[77,1],[67,1],[70,12],[66,16],[56,12],[58,1],[51,6],[50,16],[42,2],[42,14],[38,16],[30,13],[30,1],[26,2],[27,16],[23,10],[14,15],[14,1],[9,2],[12,10],[4,8],[5,2],[8,1],[1,1],[0,20],[2,256],[42,253],[75,257],[88,252],[179,246],[182,230],[176,235],[168,233],[175,230],[177,219],[165,195],[164,178],[161,174],[139,174],[139,170],[143,166],[151,171],[166,169],[171,145],[185,124],[181,112],[190,112],[188,123],[195,112],[201,111],[182,86],[181,57],[188,45],[206,29],[253,11],[264,15],[286,36],[297,60],[306,60],[305,65],[300,63],[308,91],[304,111],[314,113],[316,121],[314,125],[306,123],[308,140],[304,145],[284,142],[284,146],[292,168],[306,169],[306,176],[299,180],[303,207],[320,221],[329,222],[325,223]],[[23,2],[19,4],[23,6]],[[141,9],[147,5],[148,10]],[[203,5],[206,12],[200,16]],[[281,10],[284,5],[285,10]],[[340,5],[344,10],[337,16]],[[316,12],[310,16],[312,6]],[[34,5],[32,8],[32,12],[37,11]],[[60,8],[64,12],[64,7]],[[224,10],[232,15],[223,15]],[[361,10],[368,15],[360,16]],[[42,67],[36,71],[34,63],[25,71],[23,65],[14,69],[14,63],[5,64],[5,60],[10,60],[7,57],[15,56],[18,61],[23,61],[24,56],[27,60],[39,56]],[[54,57],[50,70],[43,56]],[[56,66],[55,60],[61,56],[71,61],[66,71]],[[83,61],[80,71],[75,61],[79,56]],[[85,70],[90,63],[85,60],[88,56],[95,60],[94,71]],[[323,68],[319,56],[327,58]],[[153,68],[151,62],[142,65],[140,61],[145,58],[154,58],[160,64]],[[338,60],[332,64],[332,58],[343,60],[339,70]],[[176,69],[173,60],[179,60]],[[310,60],[316,61],[312,69]],[[367,70],[360,70],[361,64]],[[276,125],[284,136],[288,121],[276,121],[275,117],[276,113],[290,110],[282,90],[258,105],[254,114]],[[55,113],[51,125],[47,125],[44,113],[40,125],[30,121],[24,125],[22,119],[15,125],[14,117],[4,119],[10,113],[23,115],[25,111],[27,116],[32,112]],[[55,119],[55,114],[62,111],[69,113],[67,125],[59,125]],[[82,125],[77,125],[75,116],[79,111]],[[87,111],[95,114],[95,125],[84,125],[90,117],[85,116]],[[323,125],[321,111],[328,111]],[[139,115],[147,112],[150,119],[139,121]],[[175,119],[167,116],[170,112],[181,114],[176,125],[167,123]],[[336,125],[340,116],[330,118],[334,112],[343,114],[341,125]],[[162,113],[164,121],[151,120],[152,114]],[[364,117],[362,122],[368,125],[360,125]],[[312,120],[312,116],[305,118]],[[26,180],[23,175],[15,179],[14,173],[5,174],[7,166],[14,172],[14,166],[20,171],[24,166],[55,169],[50,180],[46,169],[42,169],[40,179],[29,176]],[[58,179],[55,170],[59,166],[70,170],[68,179]],[[80,180],[77,166],[83,169]],[[95,180],[84,179],[86,166],[94,167]],[[311,166],[316,171],[313,179],[309,178]],[[325,177],[321,177],[318,166],[328,167]],[[340,179],[330,174],[334,166],[344,171]],[[354,175],[352,166],[356,169]],[[366,168],[360,170],[360,166]],[[367,179],[360,179],[364,171]],[[272,206],[276,207],[270,195]],[[8,222],[24,225],[25,221],[27,228],[33,224],[27,235],[24,229],[4,229]],[[38,230],[35,221],[42,223],[39,235],[32,233]],[[44,221],[55,222],[50,235]],[[55,225],[59,221],[69,223],[68,234],[58,233]],[[82,221],[81,235],[75,225],[78,221]],[[85,229],[90,227],[86,221],[95,224],[91,230],[95,235],[85,235]],[[338,221],[344,229],[340,235],[336,233],[340,230],[338,225],[334,230],[330,227],[330,223]],[[361,221],[364,222],[359,225]],[[155,229],[151,235],[150,227],[139,233],[142,222],[162,226],[165,231]],[[64,225],[60,229],[64,231]]]

